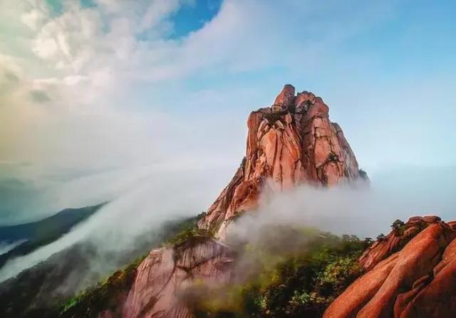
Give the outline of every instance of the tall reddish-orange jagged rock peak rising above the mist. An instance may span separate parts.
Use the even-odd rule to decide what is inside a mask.
[[[260,191],[299,184],[332,186],[364,177],[341,127],[331,122],[328,106],[311,92],[295,95],[285,85],[274,105],[252,112],[247,151],[232,181],[199,221],[202,228],[217,228],[223,238],[227,223],[242,211],[257,208]]]

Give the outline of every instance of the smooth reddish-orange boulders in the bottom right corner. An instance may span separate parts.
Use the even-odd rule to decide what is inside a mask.
[[[456,317],[456,230],[452,226],[434,216],[410,218],[402,234],[393,231],[374,243],[360,258],[366,274],[323,317]]]

